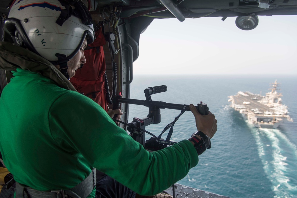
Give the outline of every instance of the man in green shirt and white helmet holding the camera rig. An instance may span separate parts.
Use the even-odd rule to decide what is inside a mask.
[[[211,112],[200,115],[191,104],[200,132],[150,153],[68,81],[94,41],[81,1],[15,1],[5,25],[16,45],[0,43],[0,68],[13,74],[0,98],[0,152],[17,197],[95,197],[94,183],[81,185],[93,168],[138,194],[154,195],[197,165],[217,131]]]

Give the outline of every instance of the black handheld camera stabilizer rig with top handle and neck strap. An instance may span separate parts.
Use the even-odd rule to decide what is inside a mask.
[[[116,95],[113,98],[113,110],[119,109],[120,103],[128,103],[128,104],[136,104],[136,105],[142,105],[145,107],[149,107],[149,114],[145,118],[133,118],[133,121],[129,124],[124,123],[128,125],[127,130],[130,132],[130,135],[132,138],[139,142],[146,150],[149,151],[158,151],[161,150],[168,145],[173,145],[176,142],[171,142],[170,138],[173,132],[173,126],[174,123],[178,120],[179,116],[183,114],[185,111],[190,111],[189,105],[186,104],[173,104],[173,103],[166,103],[166,102],[160,102],[160,101],[153,101],[151,100],[152,94],[157,94],[161,92],[167,91],[166,85],[160,85],[155,87],[149,87],[144,90],[146,100],[138,100],[138,99],[129,99],[129,98],[121,98],[121,95]],[[203,102],[200,102],[200,104],[197,104],[195,106],[198,110],[198,112],[202,115],[208,114],[208,107],[207,104],[204,104]],[[181,113],[175,118],[175,120],[171,123],[169,123],[162,133],[159,135],[159,137],[156,137],[155,135],[147,132],[145,130],[145,127],[150,124],[158,124],[161,122],[161,110],[160,109],[175,109],[175,110],[181,110]],[[115,115],[116,117],[116,115]],[[114,118],[115,118],[114,117]],[[168,133],[168,136],[166,140],[161,139],[161,135],[170,128],[170,131]],[[149,133],[153,137],[151,139],[145,141],[145,132]]]

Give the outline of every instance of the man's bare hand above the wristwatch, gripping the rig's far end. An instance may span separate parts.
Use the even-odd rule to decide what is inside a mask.
[[[197,130],[212,138],[217,132],[217,119],[214,114],[209,111],[208,115],[201,115],[193,104],[189,107],[195,117]]]

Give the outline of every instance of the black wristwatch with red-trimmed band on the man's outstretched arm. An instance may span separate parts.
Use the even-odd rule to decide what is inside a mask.
[[[199,140],[199,138],[195,135],[200,136],[201,140]],[[198,155],[201,155],[204,151],[206,151],[206,149],[209,148],[210,145],[210,138],[201,131],[193,133],[192,137],[189,140],[194,142],[194,147]]]

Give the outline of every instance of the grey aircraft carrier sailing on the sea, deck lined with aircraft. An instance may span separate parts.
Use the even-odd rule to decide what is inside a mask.
[[[228,101],[232,102],[231,107],[243,114],[255,127],[276,129],[284,118],[293,121],[287,115],[287,106],[282,104],[282,94],[277,92],[279,84],[277,80],[271,83],[271,92],[266,93],[266,96],[238,91],[236,95],[228,96]]]

